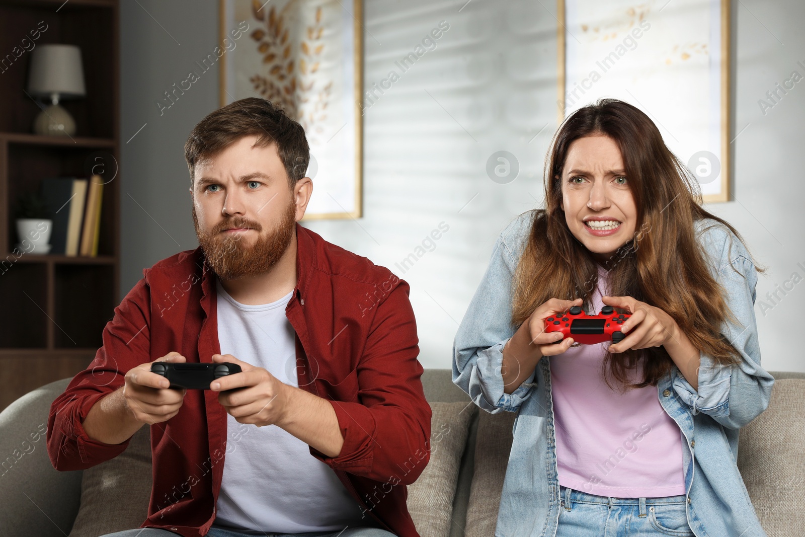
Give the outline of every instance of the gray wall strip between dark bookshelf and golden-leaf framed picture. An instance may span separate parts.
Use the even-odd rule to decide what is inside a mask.
[[[143,268],[198,246],[184,142],[196,122],[218,107],[217,66],[184,95],[177,92],[170,108],[160,110],[157,103],[171,104],[164,92],[188,72],[200,73],[196,61],[217,46],[216,4],[121,2],[121,297]]]

